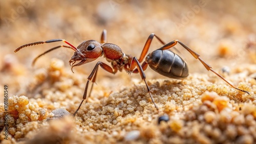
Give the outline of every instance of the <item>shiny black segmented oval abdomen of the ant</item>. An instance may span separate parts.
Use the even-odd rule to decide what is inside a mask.
[[[171,51],[156,50],[146,57],[146,63],[157,73],[173,79],[184,79],[188,76],[186,62]]]

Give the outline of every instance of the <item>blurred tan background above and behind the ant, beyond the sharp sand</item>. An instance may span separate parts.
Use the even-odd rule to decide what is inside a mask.
[[[147,37],[155,33],[166,43],[175,39],[182,41],[217,71],[225,65],[232,69],[256,63],[255,6],[256,1],[249,0],[0,1],[0,85],[7,84],[10,94],[18,94],[36,69],[47,67],[52,58],[63,60],[70,70],[68,62],[74,52],[65,48],[42,56],[31,66],[33,58],[65,44],[63,42],[26,47],[14,53],[18,46],[56,38],[77,46],[84,40],[99,41],[103,29],[108,31],[108,42],[119,45],[125,54],[137,57]],[[150,51],[160,46],[154,39]],[[190,73],[207,73],[181,46],[176,48],[178,55],[187,61]],[[106,62],[103,58],[96,61]],[[84,73],[87,78],[96,61],[75,67],[75,74]],[[145,73],[147,79],[164,78],[150,68]],[[140,80],[136,74],[129,76],[123,71],[113,76],[101,69],[97,81],[107,84],[112,80],[125,85],[120,79],[131,77]]]

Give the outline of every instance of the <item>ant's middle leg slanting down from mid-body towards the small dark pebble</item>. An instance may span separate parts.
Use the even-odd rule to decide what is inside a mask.
[[[144,73],[144,71],[143,71],[143,68],[141,67],[140,62],[138,61],[138,59],[137,59],[136,57],[133,57],[133,60],[136,62],[135,64],[136,64],[137,69],[138,69],[138,71],[139,71],[139,73],[140,73],[140,77],[141,77],[142,80],[145,82],[146,88],[147,88],[147,92],[150,93],[150,98],[151,98],[153,104],[155,105],[155,107],[156,107],[156,109],[157,109],[157,111],[158,111],[158,107],[157,107],[157,105],[156,105],[156,103],[155,103],[155,101],[154,101],[154,99],[153,99],[153,97],[152,97],[152,94],[151,94],[151,92],[150,92],[150,87],[149,87],[149,86],[147,85],[147,83],[146,83],[146,80],[145,80],[145,79],[146,79],[146,75],[145,75],[145,73]],[[144,64],[144,67],[146,67],[146,66],[147,66],[147,64]]]

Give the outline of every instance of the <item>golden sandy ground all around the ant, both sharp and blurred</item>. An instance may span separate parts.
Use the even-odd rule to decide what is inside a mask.
[[[8,95],[6,107],[0,99],[1,143],[254,143],[254,6],[252,1],[1,1],[0,93]],[[165,42],[178,39],[250,94],[230,87],[177,45],[174,52],[189,66],[187,78],[145,70],[159,111],[138,74],[99,69],[91,98],[73,117],[94,65],[108,62],[101,57],[72,73],[73,51],[61,48],[31,66],[36,56],[63,42],[13,52],[26,43],[56,38],[75,46],[99,41],[103,29],[108,42],[137,57],[151,33]],[[153,39],[150,52],[161,46]],[[56,118],[53,110],[64,109],[68,114]],[[164,114],[169,121],[158,124]]]

